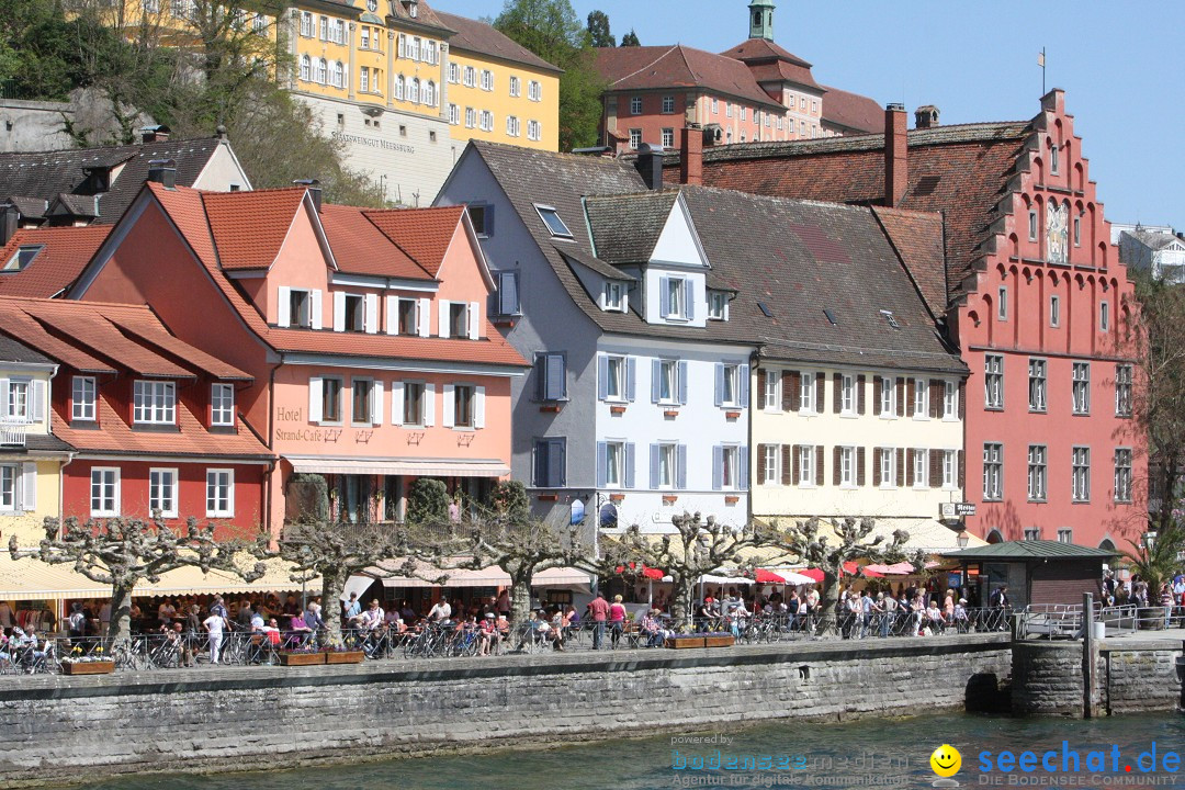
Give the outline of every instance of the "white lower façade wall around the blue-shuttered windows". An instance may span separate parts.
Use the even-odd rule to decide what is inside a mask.
[[[604,373],[600,358],[617,355],[633,368],[633,400],[603,399],[598,386],[596,400],[597,444],[621,442],[633,449],[633,487],[601,486],[604,475],[598,473],[598,493],[602,496],[623,496],[617,503],[619,524],[639,524],[645,531],[666,532],[671,516],[684,510],[716,515],[722,522],[743,525],[748,519],[747,475],[741,467],[747,461],[749,441],[749,407],[743,399],[743,386],[737,386],[732,406],[717,406],[717,365],[735,365],[743,375],[749,364],[750,349],[744,346],[688,343],[654,338],[604,336],[597,348],[597,380]],[[633,360],[632,364],[628,360]],[[675,384],[671,402],[654,403],[655,360],[677,360],[686,374],[686,385]],[[627,383],[628,386],[628,383]],[[685,390],[686,403],[679,403]],[[628,396],[629,392],[622,393]],[[652,484],[652,445],[675,444],[674,484]],[[725,487],[718,471],[720,451],[717,447],[736,449],[735,483]],[[679,458],[685,460],[680,473]],[[598,449],[597,465],[604,458]],[[627,481],[622,481],[623,483]],[[680,487],[679,483],[684,486]],[[664,501],[664,497],[668,497]],[[673,499],[672,499],[673,497]]]

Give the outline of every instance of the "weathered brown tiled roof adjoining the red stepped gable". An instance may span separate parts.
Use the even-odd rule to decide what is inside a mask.
[[[947,294],[981,257],[997,205],[1035,134],[1032,121],[914,129],[909,186],[899,207],[941,211],[946,220]],[[678,178],[668,156],[666,178]],[[704,150],[704,184],[764,195],[850,204],[884,203],[884,135],[716,146]]]

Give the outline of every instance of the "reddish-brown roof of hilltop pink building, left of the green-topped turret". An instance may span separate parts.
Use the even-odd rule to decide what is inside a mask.
[[[786,109],[757,85],[745,64],[683,44],[672,46],[606,46],[596,52],[596,69],[609,90],[703,88],[754,104]]]

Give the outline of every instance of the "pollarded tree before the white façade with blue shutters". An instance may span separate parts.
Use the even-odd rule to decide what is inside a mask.
[[[673,516],[671,524],[674,534],[647,535],[638,525],[627,527],[613,542],[607,541],[600,566],[604,576],[630,563],[666,571],[674,585],[672,614],[677,628],[686,631],[692,625],[699,578],[743,566],[742,551],[764,545],[767,531],[723,525],[711,515],[705,521],[699,513]]]

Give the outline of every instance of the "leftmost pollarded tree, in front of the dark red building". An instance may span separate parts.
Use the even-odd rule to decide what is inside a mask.
[[[60,527],[60,533],[59,533]],[[216,525],[188,519],[174,529],[161,519],[45,519],[45,540],[38,548],[19,550],[17,537],[8,540],[13,560],[36,557],[49,565],[72,565],[91,582],[111,586],[111,621],[107,637],[127,642],[130,636],[132,596],[136,585],[155,584],[161,574],[181,567],[203,573],[228,571],[254,582],[267,570],[244,558],[250,544],[238,538],[216,540]],[[218,525],[220,531],[228,527]]]

